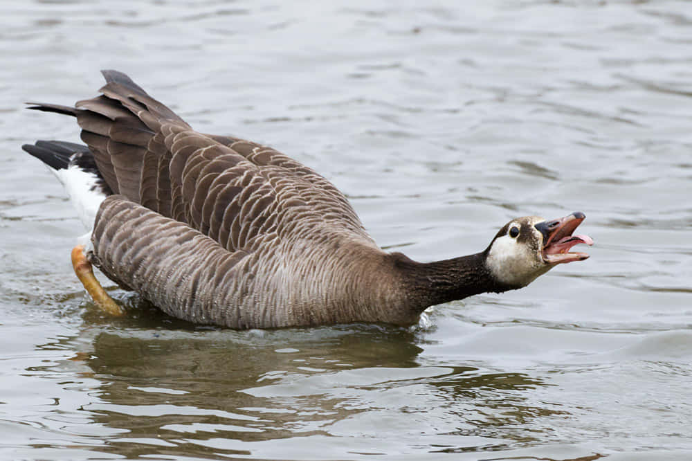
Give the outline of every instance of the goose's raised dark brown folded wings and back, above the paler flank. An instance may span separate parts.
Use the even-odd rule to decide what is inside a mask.
[[[113,192],[212,236],[228,250],[244,248],[262,233],[309,234],[295,219],[372,242],[346,197],[317,172],[270,147],[195,132],[127,75],[104,76],[101,96],[74,109],[38,108],[77,117],[82,140]]]

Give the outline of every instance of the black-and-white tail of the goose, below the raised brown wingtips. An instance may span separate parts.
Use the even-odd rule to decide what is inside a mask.
[[[45,163],[55,174],[80,221],[91,232],[101,202],[113,192],[98,171],[89,147],[66,141],[36,141],[21,148]]]

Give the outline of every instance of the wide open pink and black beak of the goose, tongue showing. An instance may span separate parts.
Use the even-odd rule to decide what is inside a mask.
[[[575,211],[554,221],[543,221],[535,225],[543,234],[543,261],[547,264],[561,264],[563,262],[583,261],[589,257],[586,253],[570,252],[576,244],[593,245],[594,241],[588,235],[572,235],[579,224],[586,219],[581,211]]]

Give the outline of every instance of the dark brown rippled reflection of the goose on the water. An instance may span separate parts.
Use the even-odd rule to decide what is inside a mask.
[[[82,409],[114,434],[98,451],[128,458],[166,447],[205,458],[257,455],[262,442],[295,437],[340,437],[346,446],[382,439],[388,453],[498,450],[545,439],[536,424],[522,428],[561,413],[533,402],[541,377],[479,363],[422,365],[425,335],[407,329],[235,332],[147,309],[122,320],[129,325],[84,318],[81,336],[42,347],[75,350],[82,376],[98,383]]]

